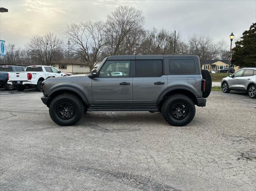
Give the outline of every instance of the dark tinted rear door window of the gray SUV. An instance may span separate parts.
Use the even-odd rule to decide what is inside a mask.
[[[162,60],[136,60],[136,77],[159,77],[162,75]]]

